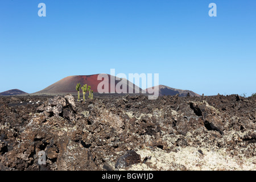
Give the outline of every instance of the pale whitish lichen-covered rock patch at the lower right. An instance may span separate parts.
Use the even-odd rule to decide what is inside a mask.
[[[230,156],[225,150],[212,151],[208,148],[180,147],[178,152],[166,152],[160,148],[138,150],[146,164],[134,164],[127,170],[256,170],[256,156],[239,158]]]

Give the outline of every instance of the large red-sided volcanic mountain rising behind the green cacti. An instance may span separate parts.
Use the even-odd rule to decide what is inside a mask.
[[[103,75],[103,78],[100,78],[100,76]],[[99,80],[98,80],[99,77]],[[139,88],[138,86],[134,85],[130,81],[126,80],[125,78],[118,78],[118,80],[115,80],[115,76],[111,76],[108,74],[97,74],[97,75],[82,75],[82,76],[68,76],[60,81],[55,82],[54,84],[48,86],[47,88],[40,90],[39,92],[36,92],[34,94],[77,94],[76,91],[76,85],[80,82],[81,86],[84,84],[87,84],[88,86],[91,86],[91,89],[93,90],[94,93],[99,93],[100,90],[98,90],[98,85],[100,84],[100,88],[105,89],[107,93],[110,93],[111,91],[111,86],[110,86],[110,80],[113,80],[114,82],[114,87],[113,87],[113,92],[117,93],[118,90],[115,89],[115,86],[117,88],[125,89],[128,93],[129,89],[133,90],[133,93],[135,91],[137,93],[141,93],[142,89]],[[122,85],[122,86],[120,86]],[[82,93],[82,90],[80,89],[80,93]],[[102,93],[102,92],[100,92]]]

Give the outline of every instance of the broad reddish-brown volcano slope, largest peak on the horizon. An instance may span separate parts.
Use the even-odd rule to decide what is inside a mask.
[[[90,85],[91,89],[94,93],[98,93],[98,84],[100,84],[102,81],[104,81],[105,85],[109,85],[109,93],[110,93],[110,78],[115,78],[114,76],[110,76],[105,74],[105,76],[108,77],[108,80],[102,78],[102,80],[98,80],[98,75],[82,75],[82,76],[68,76],[60,81],[55,82],[54,84],[48,86],[47,88],[36,92],[34,94],[65,94],[65,93],[76,93],[76,84],[80,82],[81,86],[84,84]],[[123,85],[129,85],[129,81],[126,79],[121,80],[124,84]],[[115,80],[115,84],[117,85],[119,80]],[[101,83],[102,84],[102,83]],[[139,90],[141,92],[141,89],[138,88],[138,86],[133,85],[133,90]],[[115,90],[116,91],[116,90]],[[127,86],[127,92],[129,91],[129,87]],[[80,92],[82,92],[80,90]],[[135,91],[134,91],[135,92]]]

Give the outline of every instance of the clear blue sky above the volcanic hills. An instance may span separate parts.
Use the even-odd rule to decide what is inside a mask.
[[[46,4],[46,17],[38,4]],[[209,3],[217,17],[210,17]],[[205,95],[256,92],[254,0],[1,0],[0,92],[71,75],[159,73]]]

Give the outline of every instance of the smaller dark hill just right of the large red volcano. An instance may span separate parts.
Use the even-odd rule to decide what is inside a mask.
[[[175,96],[176,94],[179,94],[180,97],[185,97],[189,93],[190,96],[199,97],[200,95],[192,92],[191,90],[181,90],[181,89],[175,89],[171,88],[169,86],[165,85],[158,85],[159,86],[159,96]],[[154,86],[152,87],[154,89]],[[148,92],[148,89],[146,89],[146,92]]]

